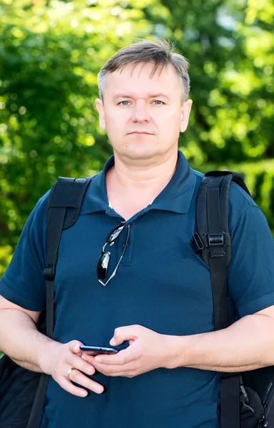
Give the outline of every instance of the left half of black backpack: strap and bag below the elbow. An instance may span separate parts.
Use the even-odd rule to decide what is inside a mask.
[[[59,177],[49,195],[46,208],[48,222],[46,310],[41,312],[37,328],[48,337],[54,335],[54,278],[62,230],[78,218],[83,196],[91,178]],[[67,208],[70,218],[65,219]],[[49,376],[16,365],[7,355],[0,359],[0,428],[39,428]]]

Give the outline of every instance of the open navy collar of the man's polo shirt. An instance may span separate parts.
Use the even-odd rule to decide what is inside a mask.
[[[88,186],[83,200],[81,214],[106,211],[108,195],[106,193],[106,172],[114,165],[114,156],[106,161],[101,173],[96,174]],[[151,210],[166,210],[174,213],[188,213],[196,187],[196,174],[189,167],[188,161],[178,151],[178,162],[175,173],[166,187],[151,204]]]

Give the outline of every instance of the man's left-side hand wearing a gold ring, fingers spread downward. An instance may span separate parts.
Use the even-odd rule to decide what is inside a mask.
[[[97,394],[101,394],[101,392],[103,392],[103,386],[89,379],[84,374],[94,374],[95,369],[93,365],[81,358],[81,345],[83,344],[77,340],[72,340],[65,344],[52,342],[52,344],[48,345],[49,352],[46,352],[46,355],[41,357],[40,367],[45,373],[51,374],[54,380],[65,389],[65,391],[73,395],[86,397],[88,392],[86,392],[85,389],[73,385],[71,380],[87,389],[91,389],[91,391]],[[72,367],[73,370],[68,378],[68,370]]]

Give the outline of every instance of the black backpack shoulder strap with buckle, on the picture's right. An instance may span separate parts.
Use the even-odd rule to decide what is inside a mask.
[[[213,173],[205,175],[199,188],[197,233],[193,235],[191,245],[210,267],[215,330],[220,330],[229,325],[227,267],[231,259],[231,241],[228,230],[228,195],[233,175],[228,172],[223,175]],[[196,242],[198,246],[195,246]]]

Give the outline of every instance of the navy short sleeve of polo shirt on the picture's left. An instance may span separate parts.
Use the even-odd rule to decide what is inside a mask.
[[[39,200],[29,215],[11,263],[0,281],[0,295],[27,310],[46,307],[46,203],[49,193]]]

